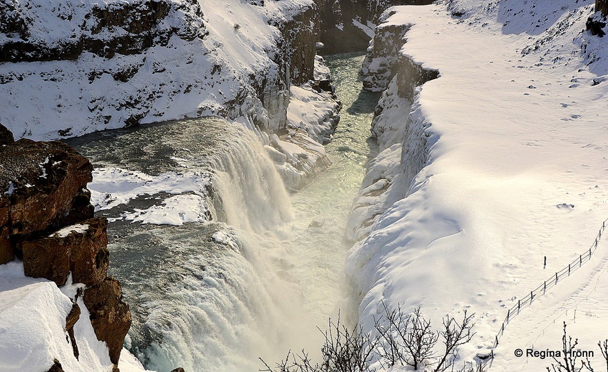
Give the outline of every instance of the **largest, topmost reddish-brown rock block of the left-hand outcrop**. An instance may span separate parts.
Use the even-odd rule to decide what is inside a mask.
[[[2,147],[0,165],[0,264],[28,235],[93,216],[84,191],[93,168],[72,147],[21,139]]]

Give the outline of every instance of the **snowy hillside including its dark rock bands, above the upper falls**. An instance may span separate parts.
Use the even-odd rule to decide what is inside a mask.
[[[311,0],[2,1],[0,14],[0,122],[17,138],[205,115],[277,129],[291,79],[312,74]],[[292,69],[294,50],[310,66]]]

